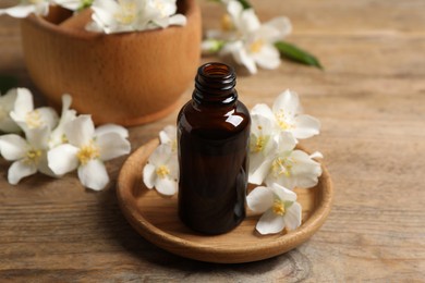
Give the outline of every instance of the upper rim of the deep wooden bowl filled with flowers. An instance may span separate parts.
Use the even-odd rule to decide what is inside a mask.
[[[187,19],[187,23],[185,26],[169,26],[167,28],[158,28],[158,29],[149,29],[149,30],[141,30],[141,32],[133,32],[133,33],[117,33],[117,34],[104,34],[104,33],[94,33],[94,32],[86,32],[86,30],[78,30],[78,29],[72,29],[72,28],[63,28],[60,25],[50,23],[49,21],[45,20],[41,16],[37,16],[35,14],[31,14],[29,16],[25,17],[23,21],[28,22],[33,25],[35,25],[37,28],[40,28],[42,30],[49,32],[53,35],[58,36],[64,36],[75,39],[100,39],[100,38],[122,38],[122,37],[139,37],[139,36],[163,36],[169,37],[172,36],[175,29],[182,30],[185,29],[190,23],[193,22],[193,17],[196,14],[201,13],[199,8],[196,4],[196,0],[183,0],[182,4],[185,4],[185,13],[184,15]],[[178,2],[179,3],[179,2]]]

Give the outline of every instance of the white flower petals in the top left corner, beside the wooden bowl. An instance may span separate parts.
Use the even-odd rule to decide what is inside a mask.
[[[31,13],[37,15],[47,15],[49,13],[50,0],[21,0],[19,5],[3,9],[0,15],[8,14],[13,17],[22,19],[28,16]]]

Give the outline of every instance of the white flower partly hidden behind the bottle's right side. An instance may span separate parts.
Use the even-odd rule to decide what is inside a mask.
[[[250,183],[260,185],[267,176],[269,162],[278,148],[277,134],[274,121],[263,115],[251,115]]]

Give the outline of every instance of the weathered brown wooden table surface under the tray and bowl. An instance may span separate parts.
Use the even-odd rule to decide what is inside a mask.
[[[289,16],[288,40],[326,67],[284,61],[238,81],[250,108],[291,88],[321,121],[320,136],[303,144],[325,155],[335,183],[325,225],[276,258],[198,262],[157,248],[127,224],[116,197],[126,157],[108,163],[111,183],[100,193],[84,189],[75,174],[35,175],[12,186],[1,161],[0,281],[425,281],[425,1],[252,2],[264,21]],[[199,3],[205,26],[214,26],[221,10]],[[0,17],[0,74],[16,76],[44,103],[25,69],[19,21],[7,16]],[[133,150],[175,116],[130,128]]]

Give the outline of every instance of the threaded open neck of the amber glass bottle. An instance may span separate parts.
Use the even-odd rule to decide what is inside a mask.
[[[238,100],[236,75],[223,63],[206,63],[197,70],[192,98],[197,104],[229,106]]]

